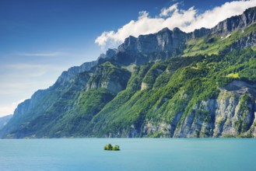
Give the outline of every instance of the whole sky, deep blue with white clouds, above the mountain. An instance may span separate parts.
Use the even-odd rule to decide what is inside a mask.
[[[212,27],[251,6],[255,0],[0,0],[0,117],[128,35]]]

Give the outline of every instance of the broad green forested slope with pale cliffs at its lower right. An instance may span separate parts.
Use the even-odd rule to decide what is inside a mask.
[[[234,51],[223,56],[176,58],[161,65],[137,68],[128,88],[89,123],[89,135],[254,136],[251,130],[255,111],[255,55],[251,50]],[[134,87],[135,82],[140,85],[147,80],[156,68],[166,69],[155,72],[160,75],[152,87],[142,90]]]

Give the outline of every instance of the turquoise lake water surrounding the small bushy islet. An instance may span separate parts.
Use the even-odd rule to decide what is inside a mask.
[[[0,170],[240,171],[256,170],[255,159],[256,139],[0,140]]]

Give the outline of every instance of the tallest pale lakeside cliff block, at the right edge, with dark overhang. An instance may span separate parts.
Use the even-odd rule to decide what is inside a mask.
[[[232,82],[217,99],[214,137],[247,134],[254,127],[256,86]]]

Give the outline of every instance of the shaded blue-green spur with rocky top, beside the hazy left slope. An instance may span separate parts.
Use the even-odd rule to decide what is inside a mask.
[[[86,88],[77,98],[77,105],[68,110],[52,125],[50,137],[84,137],[90,120],[109,103],[118,92],[125,89],[131,73],[110,62],[97,66]]]

